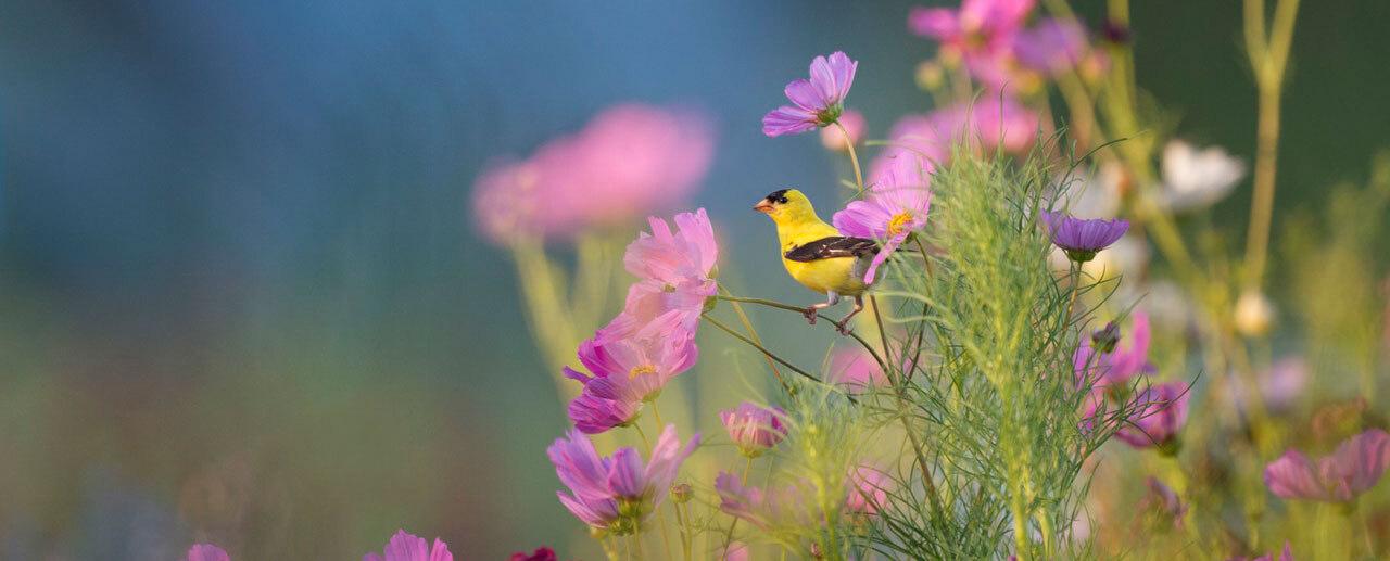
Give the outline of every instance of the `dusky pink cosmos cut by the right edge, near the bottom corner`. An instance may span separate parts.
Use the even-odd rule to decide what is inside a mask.
[[[1390,464],[1390,435],[1368,429],[1315,464],[1290,449],[1265,467],[1265,486],[1283,499],[1350,503],[1376,486]]]

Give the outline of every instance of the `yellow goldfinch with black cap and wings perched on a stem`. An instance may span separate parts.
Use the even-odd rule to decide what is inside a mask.
[[[810,199],[799,190],[773,192],[753,206],[771,217],[781,242],[783,265],[802,286],[826,294],[826,301],[806,307],[806,319],[815,325],[820,308],[853,297],[855,308],[841,319],[840,332],[848,335],[848,321],[865,308],[865,272],[878,253],[878,243],[867,237],[841,236],[835,226],[816,215]]]

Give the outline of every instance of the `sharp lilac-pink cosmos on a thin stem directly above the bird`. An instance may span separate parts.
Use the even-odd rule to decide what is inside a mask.
[[[842,51],[831,53],[830,58],[816,57],[810,61],[810,81],[787,85],[787,99],[792,104],[763,117],[763,135],[795,135],[838,121],[858,67],[859,62]]]

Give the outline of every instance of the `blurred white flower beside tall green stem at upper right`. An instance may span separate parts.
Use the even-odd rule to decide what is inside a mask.
[[[1162,200],[1175,212],[1225,199],[1244,176],[1245,162],[1219,146],[1197,150],[1183,140],[1163,146]]]

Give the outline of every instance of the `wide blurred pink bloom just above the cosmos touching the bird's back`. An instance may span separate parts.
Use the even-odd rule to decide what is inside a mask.
[[[984,151],[1004,149],[1020,153],[1037,140],[1040,115],[1013,97],[986,94],[973,103],[942,107],[926,115],[910,114],[888,131],[885,146],[873,164],[869,178],[883,176],[899,158],[920,160],[927,172],[949,161],[952,144]]]

